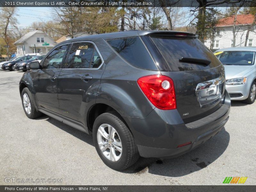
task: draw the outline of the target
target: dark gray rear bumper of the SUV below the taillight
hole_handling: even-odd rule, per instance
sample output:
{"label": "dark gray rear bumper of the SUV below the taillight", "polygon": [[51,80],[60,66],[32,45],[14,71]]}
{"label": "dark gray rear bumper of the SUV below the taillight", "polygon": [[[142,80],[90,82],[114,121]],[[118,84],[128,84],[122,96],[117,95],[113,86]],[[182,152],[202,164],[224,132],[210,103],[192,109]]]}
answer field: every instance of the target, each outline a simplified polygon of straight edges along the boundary
{"label": "dark gray rear bumper of the SUV below the taillight", "polygon": [[[187,153],[220,132],[228,121],[229,111],[230,98],[226,92],[217,111],[188,124],[184,124],[177,110],[157,108],[145,118],[128,117],[126,122],[140,156],[172,158]],[[190,141],[191,144],[177,148]]]}

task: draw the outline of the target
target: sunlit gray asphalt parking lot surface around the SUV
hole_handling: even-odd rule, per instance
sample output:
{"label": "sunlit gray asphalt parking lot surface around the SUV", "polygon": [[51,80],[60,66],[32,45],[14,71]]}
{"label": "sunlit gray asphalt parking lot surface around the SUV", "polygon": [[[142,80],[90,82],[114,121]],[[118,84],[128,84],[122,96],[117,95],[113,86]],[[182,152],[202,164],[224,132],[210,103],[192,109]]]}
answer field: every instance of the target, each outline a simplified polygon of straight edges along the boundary
{"label": "sunlit gray asphalt parking lot surface around the SUV", "polygon": [[[27,118],[22,74],[0,71],[0,185],[221,185],[225,177],[248,177],[244,185],[255,185],[256,102],[232,102],[225,128],[195,150],[174,159],[140,158],[117,172],[101,161],[92,136],[46,115]],[[6,183],[6,177],[62,183]]]}

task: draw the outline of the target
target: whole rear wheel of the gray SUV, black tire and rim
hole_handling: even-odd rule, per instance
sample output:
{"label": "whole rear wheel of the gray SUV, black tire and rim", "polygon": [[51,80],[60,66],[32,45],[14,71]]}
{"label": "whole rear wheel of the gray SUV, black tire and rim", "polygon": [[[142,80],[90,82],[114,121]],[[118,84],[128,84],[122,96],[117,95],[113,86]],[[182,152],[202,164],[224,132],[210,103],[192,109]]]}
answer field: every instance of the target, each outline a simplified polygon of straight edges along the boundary
{"label": "whole rear wheel of the gray SUV, black tire and rim", "polygon": [[132,133],[116,112],[98,116],[92,134],[97,153],[111,169],[124,170],[139,159]]}

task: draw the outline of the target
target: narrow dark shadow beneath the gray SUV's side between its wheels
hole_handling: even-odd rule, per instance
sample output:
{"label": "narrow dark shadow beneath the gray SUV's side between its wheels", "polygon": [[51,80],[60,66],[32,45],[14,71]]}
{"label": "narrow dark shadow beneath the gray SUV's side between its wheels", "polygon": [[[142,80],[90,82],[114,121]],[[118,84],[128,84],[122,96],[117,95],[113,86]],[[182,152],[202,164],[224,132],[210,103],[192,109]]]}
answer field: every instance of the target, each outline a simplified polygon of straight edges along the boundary
{"label": "narrow dark shadow beneath the gray SUV's side between its wheels", "polygon": [[82,132],[82,131],[79,131],[69,125],[66,125],[56,119],[53,119],[52,117],[49,117],[45,114],[43,114],[41,117],[39,118],[36,118],[35,120],[45,120],[45,121],[48,121],[49,123],[53,124],[54,126],[62,129],[63,131],[75,136],[77,139],[80,139],[86,143],[88,143],[89,145],[92,145],[94,146],[93,144],[93,140],[92,140],[92,135],[88,135],[87,133],[85,132]]}

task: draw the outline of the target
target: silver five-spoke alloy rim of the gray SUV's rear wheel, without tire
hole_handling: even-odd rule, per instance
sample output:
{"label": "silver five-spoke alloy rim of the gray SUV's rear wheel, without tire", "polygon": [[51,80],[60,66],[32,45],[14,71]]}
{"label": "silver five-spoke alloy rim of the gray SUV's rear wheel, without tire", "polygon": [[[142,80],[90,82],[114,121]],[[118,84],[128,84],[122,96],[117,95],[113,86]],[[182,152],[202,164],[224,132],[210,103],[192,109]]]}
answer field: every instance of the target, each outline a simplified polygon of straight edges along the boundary
{"label": "silver five-spoke alloy rim of the gray SUV's rear wheel, without tire", "polygon": [[102,154],[116,162],[122,156],[122,143],[116,129],[109,124],[101,124],[97,132],[97,141]]}

